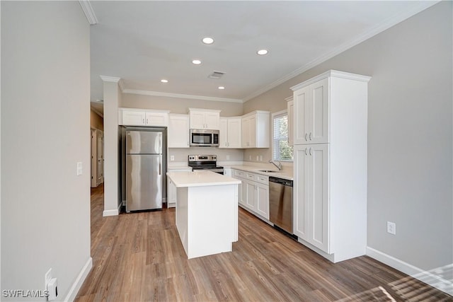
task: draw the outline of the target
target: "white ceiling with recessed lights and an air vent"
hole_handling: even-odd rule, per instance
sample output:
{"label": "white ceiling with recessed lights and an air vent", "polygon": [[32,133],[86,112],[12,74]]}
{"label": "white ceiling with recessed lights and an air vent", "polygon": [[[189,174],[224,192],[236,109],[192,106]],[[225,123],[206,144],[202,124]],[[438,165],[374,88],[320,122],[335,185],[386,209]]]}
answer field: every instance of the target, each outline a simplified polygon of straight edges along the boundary
{"label": "white ceiling with recessed lights and an air vent", "polygon": [[[91,100],[103,99],[102,75],[121,78],[124,92],[241,102],[436,2],[90,3],[98,20],[91,25]],[[202,44],[205,36],[214,44]],[[269,54],[258,56],[261,48]],[[225,74],[209,79],[213,71]]]}

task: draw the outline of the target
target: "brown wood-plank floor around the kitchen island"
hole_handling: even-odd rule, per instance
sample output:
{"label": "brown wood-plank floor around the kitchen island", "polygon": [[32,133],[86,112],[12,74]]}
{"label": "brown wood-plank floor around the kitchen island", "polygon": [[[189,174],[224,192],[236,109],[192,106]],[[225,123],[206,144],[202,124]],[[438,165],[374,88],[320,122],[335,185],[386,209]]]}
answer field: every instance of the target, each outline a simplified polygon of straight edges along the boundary
{"label": "brown wood-plank floor around the kitchen island", "polygon": [[188,260],[174,209],[102,217],[103,187],[91,199],[93,269],[78,302],[453,301],[367,256],[333,264],[243,209],[233,252]]}

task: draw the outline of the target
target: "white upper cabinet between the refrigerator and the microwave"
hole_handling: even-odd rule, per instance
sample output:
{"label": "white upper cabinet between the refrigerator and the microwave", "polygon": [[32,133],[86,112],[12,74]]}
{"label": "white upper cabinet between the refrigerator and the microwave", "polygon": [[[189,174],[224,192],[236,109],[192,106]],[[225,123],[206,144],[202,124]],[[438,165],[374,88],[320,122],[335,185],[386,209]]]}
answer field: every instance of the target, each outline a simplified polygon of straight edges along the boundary
{"label": "white upper cabinet between the refrigerator and the microwave", "polygon": [[189,148],[189,115],[168,115],[168,148]]}

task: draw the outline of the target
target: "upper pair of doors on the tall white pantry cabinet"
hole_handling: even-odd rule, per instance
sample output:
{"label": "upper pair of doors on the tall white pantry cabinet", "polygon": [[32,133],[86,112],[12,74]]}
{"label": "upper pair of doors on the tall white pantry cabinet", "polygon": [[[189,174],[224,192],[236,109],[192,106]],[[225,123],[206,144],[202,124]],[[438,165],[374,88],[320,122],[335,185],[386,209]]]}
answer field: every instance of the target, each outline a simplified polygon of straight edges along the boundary
{"label": "upper pair of doors on the tall white pantry cabinet", "polygon": [[328,143],[330,78],[294,91],[294,144]]}

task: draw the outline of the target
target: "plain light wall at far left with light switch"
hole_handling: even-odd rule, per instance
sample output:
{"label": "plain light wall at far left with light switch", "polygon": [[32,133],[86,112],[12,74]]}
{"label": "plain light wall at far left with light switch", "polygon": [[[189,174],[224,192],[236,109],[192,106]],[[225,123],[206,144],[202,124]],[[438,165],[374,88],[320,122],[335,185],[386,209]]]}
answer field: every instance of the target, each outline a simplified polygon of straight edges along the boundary
{"label": "plain light wall at far left with light switch", "polygon": [[89,55],[78,1],[1,1],[2,290],[52,268],[62,301],[91,265]]}

